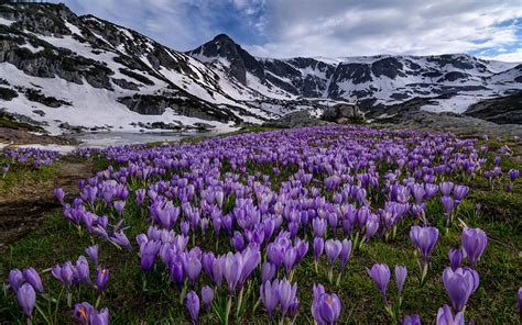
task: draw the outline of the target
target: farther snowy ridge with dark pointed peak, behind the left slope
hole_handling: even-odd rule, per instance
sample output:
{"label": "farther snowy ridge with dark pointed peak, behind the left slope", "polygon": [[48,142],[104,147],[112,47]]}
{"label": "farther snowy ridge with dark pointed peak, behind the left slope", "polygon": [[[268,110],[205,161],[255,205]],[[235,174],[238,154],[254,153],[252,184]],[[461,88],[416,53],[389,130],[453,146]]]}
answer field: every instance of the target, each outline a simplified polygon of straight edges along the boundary
{"label": "farther snowy ridge with dark pointed peak, behind the left slope", "polygon": [[426,110],[461,113],[482,99],[522,90],[522,64],[483,60],[465,54],[347,58],[257,58],[227,35],[188,52],[218,65],[242,85],[283,98],[325,98],[363,109],[413,98],[436,99]]}

